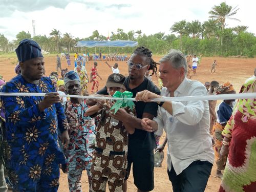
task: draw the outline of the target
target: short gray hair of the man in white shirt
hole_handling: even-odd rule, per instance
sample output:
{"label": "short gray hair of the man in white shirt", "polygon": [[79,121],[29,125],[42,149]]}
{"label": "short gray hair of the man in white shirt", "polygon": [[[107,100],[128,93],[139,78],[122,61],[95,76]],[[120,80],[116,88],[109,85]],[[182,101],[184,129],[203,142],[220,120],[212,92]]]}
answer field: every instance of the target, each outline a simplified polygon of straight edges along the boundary
{"label": "short gray hair of the man in white shirt", "polygon": [[164,55],[159,62],[169,62],[173,68],[184,68],[185,74],[187,73],[187,61],[185,55],[176,49],[171,49],[169,53]]}

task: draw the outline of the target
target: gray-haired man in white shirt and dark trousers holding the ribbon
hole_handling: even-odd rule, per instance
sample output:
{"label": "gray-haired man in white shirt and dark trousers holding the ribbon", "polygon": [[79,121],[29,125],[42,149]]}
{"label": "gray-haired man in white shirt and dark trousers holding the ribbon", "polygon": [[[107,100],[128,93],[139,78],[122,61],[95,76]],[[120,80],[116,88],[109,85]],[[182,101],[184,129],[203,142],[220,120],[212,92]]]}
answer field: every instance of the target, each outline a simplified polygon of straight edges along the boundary
{"label": "gray-haired man in white shirt and dark trousers holding the ribbon", "polygon": [[[160,59],[161,96],[147,90],[137,93],[136,100],[150,102],[159,97],[204,96],[202,83],[186,78],[187,63],[183,53],[171,50]],[[176,191],[204,191],[214,162],[209,134],[208,101],[158,102],[158,116],[142,119],[142,127],[156,135],[167,133],[168,176]]]}

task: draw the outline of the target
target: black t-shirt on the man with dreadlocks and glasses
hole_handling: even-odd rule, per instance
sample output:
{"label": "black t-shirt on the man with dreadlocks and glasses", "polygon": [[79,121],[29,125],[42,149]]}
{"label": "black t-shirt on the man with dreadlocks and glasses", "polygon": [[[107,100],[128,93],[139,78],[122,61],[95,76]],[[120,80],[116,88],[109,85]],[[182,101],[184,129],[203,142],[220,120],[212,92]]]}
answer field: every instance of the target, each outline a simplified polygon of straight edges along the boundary
{"label": "black t-shirt on the man with dreadlocks and glasses", "polygon": [[[148,90],[153,93],[160,95],[160,90],[155,86],[155,84],[144,78],[144,81],[134,89],[129,88],[129,77],[125,78],[124,86],[126,91],[133,93],[133,97],[140,91]],[[108,95],[106,87],[102,90],[99,90],[97,94]],[[134,101],[137,118],[142,119],[143,113],[149,113],[154,116],[157,116],[158,104],[156,102],[143,102],[143,101]],[[148,150],[152,151],[156,147],[156,139],[154,133],[149,133],[143,130],[135,129],[135,133],[129,135],[129,147],[137,148],[138,150]]]}

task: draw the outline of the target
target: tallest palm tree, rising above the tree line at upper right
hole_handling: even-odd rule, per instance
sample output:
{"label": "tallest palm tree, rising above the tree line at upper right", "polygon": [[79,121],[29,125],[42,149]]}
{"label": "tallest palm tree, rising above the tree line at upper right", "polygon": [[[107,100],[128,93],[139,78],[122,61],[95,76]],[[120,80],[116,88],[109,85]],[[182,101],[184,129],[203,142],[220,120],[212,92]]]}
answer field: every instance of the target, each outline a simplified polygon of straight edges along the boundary
{"label": "tallest palm tree, rising above the tree line at upper right", "polygon": [[[239,19],[231,17],[237,14],[237,11],[239,10],[239,8],[237,9],[237,7],[238,6],[232,9],[232,6],[227,5],[226,2],[222,2],[219,6],[215,5],[214,7],[212,7],[212,10],[209,11],[209,14],[210,14],[209,17],[214,18],[218,22],[220,22],[221,31],[223,31],[223,29],[226,26],[226,23],[225,23],[226,19],[237,20],[240,22]],[[222,36],[221,36],[221,54],[222,54]]]}

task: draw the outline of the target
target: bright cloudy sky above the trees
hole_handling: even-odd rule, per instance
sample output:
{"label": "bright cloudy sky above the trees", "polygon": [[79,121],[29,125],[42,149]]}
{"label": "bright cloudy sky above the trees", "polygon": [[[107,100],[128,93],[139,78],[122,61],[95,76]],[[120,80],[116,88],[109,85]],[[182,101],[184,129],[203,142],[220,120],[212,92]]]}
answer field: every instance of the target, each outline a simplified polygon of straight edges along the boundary
{"label": "bright cloudy sky above the trees", "polygon": [[[146,35],[157,32],[169,34],[169,28],[182,19],[208,20],[208,12],[215,1],[171,1],[171,0],[0,0],[0,33],[9,40],[15,39],[19,31],[33,34],[32,20],[35,20],[36,35],[49,36],[52,29],[71,33],[74,37],[88,37],[94,30],[108,36],[117,28],[125,32],[142,30]],[[214,3],[212,3],[214,2]],[[254,14],[256,3],[249,0],[226,0],[240,10],[234,16],[241,20],[227,20],[227,27],[248,26],[248,31],[256,33]]]}

